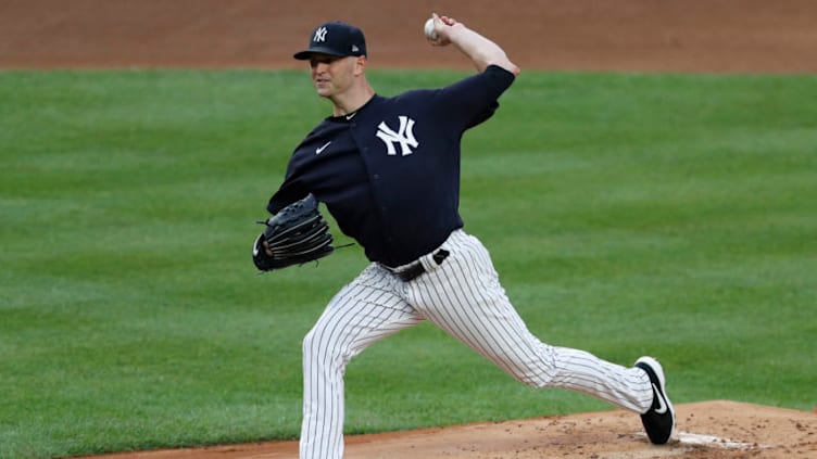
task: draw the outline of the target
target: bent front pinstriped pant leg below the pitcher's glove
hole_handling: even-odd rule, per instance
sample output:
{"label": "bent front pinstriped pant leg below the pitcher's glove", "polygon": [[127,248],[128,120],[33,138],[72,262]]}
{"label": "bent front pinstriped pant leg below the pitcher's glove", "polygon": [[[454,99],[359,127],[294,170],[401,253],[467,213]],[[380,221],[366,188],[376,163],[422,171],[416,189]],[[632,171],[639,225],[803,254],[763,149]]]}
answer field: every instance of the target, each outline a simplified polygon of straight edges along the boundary
{"label": "bent front pinstriped pant leg below the pitcher's glove", "polygon": [[343,456],[343,374],[376,341],[423,321],[400,296],[402,284],[370,265],[344,286],[303,340],[301,459]]}

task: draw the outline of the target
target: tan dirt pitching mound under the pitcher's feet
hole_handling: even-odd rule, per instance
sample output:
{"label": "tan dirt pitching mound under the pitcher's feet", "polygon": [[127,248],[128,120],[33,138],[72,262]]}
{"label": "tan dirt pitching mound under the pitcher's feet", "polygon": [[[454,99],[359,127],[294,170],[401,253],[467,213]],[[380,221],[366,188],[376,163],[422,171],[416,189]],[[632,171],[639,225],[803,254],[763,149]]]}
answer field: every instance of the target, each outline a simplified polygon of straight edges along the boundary
{"label": "tan dirt pitching mound under the pitcher's feet", "polygon": [[[676,407],[668,445],[651,445],[638,416],[602,411],[347,436],[349,459],[814,458],[817,415],[736,401]],[[96,459],[297,458],[297,442],[98,456]]]}

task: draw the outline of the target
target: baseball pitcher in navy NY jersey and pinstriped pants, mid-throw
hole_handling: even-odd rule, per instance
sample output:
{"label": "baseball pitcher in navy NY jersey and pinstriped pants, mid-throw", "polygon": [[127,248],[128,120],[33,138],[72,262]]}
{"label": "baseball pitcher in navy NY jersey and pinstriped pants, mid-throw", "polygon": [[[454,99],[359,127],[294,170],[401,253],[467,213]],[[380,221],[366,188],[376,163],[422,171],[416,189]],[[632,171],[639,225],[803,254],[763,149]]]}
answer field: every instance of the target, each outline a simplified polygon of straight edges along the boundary
{"label": "baseball pitcher in navy NY jersey and pinstriped pants, mid-throw", "polygon": [[525,384],[578,391],[633,411],[653,443],[668,442],[675,410],[661,365],[642,357],[626,368],[541,342],[505,295],[488,250],[463,230],[461,139],[494,114],[519,68],[452,17],[435,14],[426,36],[431,46],[456,48],[476,73],[444,88],[379,95],[366,79],[363,31],[339,22],[319,25],[294,54],[309,63],[332,112],[292,153],[267,204],[275,217],[255,242],[255,265],[278,269],[331,252],[317,202],[370,260],[303,340],[301,458],[343,456],[345,366],[376,341],[424,321]]}

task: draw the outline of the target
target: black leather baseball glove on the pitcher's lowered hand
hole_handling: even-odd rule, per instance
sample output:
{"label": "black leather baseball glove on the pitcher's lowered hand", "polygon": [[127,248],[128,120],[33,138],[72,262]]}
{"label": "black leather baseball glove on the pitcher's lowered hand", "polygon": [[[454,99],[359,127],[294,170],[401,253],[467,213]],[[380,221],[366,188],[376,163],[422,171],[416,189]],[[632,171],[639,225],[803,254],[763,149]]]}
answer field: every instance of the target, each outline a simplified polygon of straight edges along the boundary
{"label": "black leather baseball glove on the pitcher's lowered hand", "polygon": [[310,194],[284,207],[274,217],[259,224],[266,229],[255,239],[252,260],[262,271],[303,265],[332,253],[329,224],[317,208],[318,202]]}

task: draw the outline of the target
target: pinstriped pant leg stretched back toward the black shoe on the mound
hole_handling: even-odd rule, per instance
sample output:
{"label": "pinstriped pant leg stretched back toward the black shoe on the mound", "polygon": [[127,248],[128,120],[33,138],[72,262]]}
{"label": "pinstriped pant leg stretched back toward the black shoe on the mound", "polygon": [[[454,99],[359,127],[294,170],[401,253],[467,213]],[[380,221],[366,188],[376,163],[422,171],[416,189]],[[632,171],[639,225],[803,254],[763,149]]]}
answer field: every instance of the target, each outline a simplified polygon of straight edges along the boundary
{"label": "pinstriped pant leg stretched back toward the black shoe on the mound", "polygon": [[455,231],[443,244],[451,255],[410,285],[409,299],[425,317],[518,381],[563,387],[644,412],[652,387],[644,371],[590,353],[550,346],[530,333],[499,282],[488,251]]}

